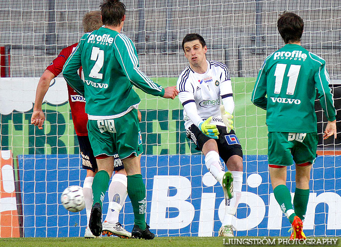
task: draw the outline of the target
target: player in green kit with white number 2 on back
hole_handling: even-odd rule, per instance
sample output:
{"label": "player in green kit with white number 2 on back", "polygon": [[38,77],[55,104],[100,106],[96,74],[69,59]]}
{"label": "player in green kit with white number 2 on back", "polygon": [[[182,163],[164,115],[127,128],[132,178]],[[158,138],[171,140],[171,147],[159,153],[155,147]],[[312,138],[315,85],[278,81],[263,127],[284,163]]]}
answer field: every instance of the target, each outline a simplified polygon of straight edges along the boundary
{"label": "player in green kit with white number 2 on back", "polygon": [[[119,0],[104,0],[99,30],[83,35],[63,68],[67,83],[86,99],[88,132],[98,164],[93,181],[94,204],[89,228],[95,236],[102,231],[102,202],[118,153],[127,172],[127,190],[132,201],[132,237],[152,239],[146,225],[146,187],[140,168],[142,138],[137,119],[140,98],[133,85],[146,93],[174,99],[175,87],[162,88],[139,70],[133,41],[120,34],[125,20],[125,5]],[[82,66],[84,81],[77,70]]]}

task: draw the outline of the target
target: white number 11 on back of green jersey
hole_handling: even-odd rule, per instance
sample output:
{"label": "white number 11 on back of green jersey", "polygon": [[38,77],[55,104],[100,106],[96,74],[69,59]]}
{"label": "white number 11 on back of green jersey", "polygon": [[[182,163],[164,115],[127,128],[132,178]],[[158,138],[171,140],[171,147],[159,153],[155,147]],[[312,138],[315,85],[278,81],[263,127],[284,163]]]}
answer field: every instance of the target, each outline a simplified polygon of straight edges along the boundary
{"label": "white number 11 on back of green jersey", "polygon": [[[283,78],[285,73],[286,64],[277,64],[275,70],[275,94],[279,94],[282,89]],[[286,88],[286,94],[293,95],[296,88],[297,78],[301,70],[301,65],[290,65],[288,74],[289,77],[288,87]]]}

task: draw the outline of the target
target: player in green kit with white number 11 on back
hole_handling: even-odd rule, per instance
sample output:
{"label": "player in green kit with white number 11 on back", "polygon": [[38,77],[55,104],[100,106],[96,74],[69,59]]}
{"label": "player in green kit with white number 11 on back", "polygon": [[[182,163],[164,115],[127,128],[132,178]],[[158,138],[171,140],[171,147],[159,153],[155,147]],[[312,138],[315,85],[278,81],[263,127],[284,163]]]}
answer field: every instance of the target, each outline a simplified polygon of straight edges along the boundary
{"label": "player in green kit with white number 11 on back", "polygon": [[[318,143],[314,109],[316,88],[328,119],[323,139],[332,135],[336,138],[336,110],[325,60],[301,46],[302,18],[285,13],[278,19],[277,27],[285,46],[266,57],[251,101],[266,110],[271,184],[277,202],[292,224],[290,238],[305,239],[302,220]],[[286,167],[294,162],[296,190],[292,205],[285,182]]]}

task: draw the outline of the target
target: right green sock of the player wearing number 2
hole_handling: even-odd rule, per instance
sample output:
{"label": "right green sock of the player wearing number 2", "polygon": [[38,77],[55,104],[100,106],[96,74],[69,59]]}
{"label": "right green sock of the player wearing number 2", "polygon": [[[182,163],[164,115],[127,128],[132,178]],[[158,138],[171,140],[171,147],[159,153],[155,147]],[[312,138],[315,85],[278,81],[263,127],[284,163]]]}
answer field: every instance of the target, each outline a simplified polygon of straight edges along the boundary
{"label": "right green sock of the player wearing number 2", "polygon": [[140,229],[146,229],[146,186],[142,175],[127,176],[127,191],[133,205],[134,223]]}

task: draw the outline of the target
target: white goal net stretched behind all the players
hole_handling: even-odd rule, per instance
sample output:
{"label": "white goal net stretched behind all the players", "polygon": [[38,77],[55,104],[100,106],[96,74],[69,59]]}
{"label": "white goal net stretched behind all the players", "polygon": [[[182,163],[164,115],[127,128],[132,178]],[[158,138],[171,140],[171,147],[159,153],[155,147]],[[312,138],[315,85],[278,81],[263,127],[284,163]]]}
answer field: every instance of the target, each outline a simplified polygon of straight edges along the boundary
{"label": "white goal net stretched behind all the players", "polygon": [[[123,0],[123,33],[135,43],[140,68],[162,86],[174,86],[188,61],[181,42],[202,35],[208,59],[230,70],[235,132],[244,152],[242,197],[234,219],[237,236],[288,236],[268,175],[265,111],[250,102],[265,57],[284,42],[276,22],[284,11],[304,20],[302,45],[326,60],[341,128],[341,2],[334,0]],[[62,48],[83,34],[82,18],[98,0],[8,0],[0,3],[0,236],[83,236],[85,210],[72,213],[60,202],[69,185],[83,185],[79,148],[66,83],[59,75],[45,97],[44,129],[30,124],[39,77]],[[147,223],[157,236],[217,236],[224,196],[204,158],[186,137],[179,100],[136,90],[147,188]],[[341,236],[341,145],[322,140],[326,119],[316,101],[319,146],[310,181],[304,232]],[[295,121],[294,119],[292,121]],[[287,185],[295,191],[295,170]],[[104,202],[104,215],[108,197]],[[129,198],[119,220],[133,227]]]}

